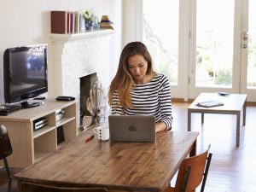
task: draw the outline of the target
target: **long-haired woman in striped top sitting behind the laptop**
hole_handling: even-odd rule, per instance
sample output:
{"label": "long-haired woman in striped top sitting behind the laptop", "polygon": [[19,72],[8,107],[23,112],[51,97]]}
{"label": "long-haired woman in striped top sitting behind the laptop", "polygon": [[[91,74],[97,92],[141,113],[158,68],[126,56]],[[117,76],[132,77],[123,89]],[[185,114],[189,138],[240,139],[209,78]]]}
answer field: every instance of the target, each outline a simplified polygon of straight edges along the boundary
{"label": "long-haired woman in striped top sitting behind the laptop", "polygon": [[156,132],[172,129],[169,81],[163,74],[154,73],[151,55],[141,42],[132,42],[123,49],[108,101],[113,115],[152,114]]}

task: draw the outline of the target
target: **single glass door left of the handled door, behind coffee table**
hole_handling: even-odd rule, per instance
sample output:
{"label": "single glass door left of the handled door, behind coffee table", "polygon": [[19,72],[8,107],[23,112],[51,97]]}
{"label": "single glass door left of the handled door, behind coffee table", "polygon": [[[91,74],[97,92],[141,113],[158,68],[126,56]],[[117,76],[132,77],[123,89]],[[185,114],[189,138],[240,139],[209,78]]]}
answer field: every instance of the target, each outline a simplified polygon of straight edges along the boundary
{"label": "single glass door left of the handled door, behind coffee table", "polygon": [[189,98],[203,91],[239,92],[235,0],[192,0],[190,9]]}

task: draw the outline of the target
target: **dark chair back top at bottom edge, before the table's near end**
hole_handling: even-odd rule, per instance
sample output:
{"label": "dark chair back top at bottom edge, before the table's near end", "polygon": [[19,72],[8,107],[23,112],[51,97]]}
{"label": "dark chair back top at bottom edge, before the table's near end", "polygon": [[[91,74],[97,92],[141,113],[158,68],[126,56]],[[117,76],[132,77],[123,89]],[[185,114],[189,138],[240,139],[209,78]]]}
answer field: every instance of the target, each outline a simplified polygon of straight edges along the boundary
{"label": "dark chair back top at bottom edge, before the table's near end", "polygon": [[104,188],[55,186],[29,182],[22,183],[21,189],[25,192],[108,192]]}

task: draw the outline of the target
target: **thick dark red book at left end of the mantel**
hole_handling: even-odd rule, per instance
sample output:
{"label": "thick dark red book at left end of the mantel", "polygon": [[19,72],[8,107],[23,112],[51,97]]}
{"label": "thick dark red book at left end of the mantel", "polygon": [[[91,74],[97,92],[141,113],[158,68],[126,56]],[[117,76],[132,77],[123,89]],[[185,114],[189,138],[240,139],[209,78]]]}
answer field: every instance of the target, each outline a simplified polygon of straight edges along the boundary
{"label": "thick dark red book at left end of the mantel", "polygon": [[65,34],[67,33],[67,12],[51,11],[50,12],[50,32]]}

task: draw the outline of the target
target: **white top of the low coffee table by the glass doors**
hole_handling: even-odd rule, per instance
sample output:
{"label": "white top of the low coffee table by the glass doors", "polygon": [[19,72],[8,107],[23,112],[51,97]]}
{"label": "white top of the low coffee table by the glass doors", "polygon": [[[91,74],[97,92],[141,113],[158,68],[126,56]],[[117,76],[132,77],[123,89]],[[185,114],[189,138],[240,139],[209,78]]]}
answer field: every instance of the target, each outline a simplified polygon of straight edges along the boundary
{"label": "white top of the low coffee table by the glass doors", "polygon": [[[190,111],[196,110],[204,110],[204,111],[241,111],[243,104],[247,100],[247,94],[230,94],[229,96],[219,96],[217,93],[201,93],[199,96],[196,97],[195,101],[189,105]],[[198,107],[196,104],[198,102],[207,102],[207,101],[216,101],[216,102],[223,102],[223,106],[212,107],[212,108],[203,108]]]}

